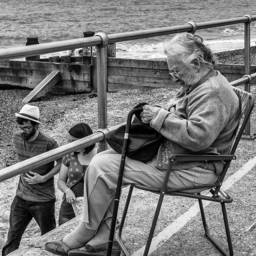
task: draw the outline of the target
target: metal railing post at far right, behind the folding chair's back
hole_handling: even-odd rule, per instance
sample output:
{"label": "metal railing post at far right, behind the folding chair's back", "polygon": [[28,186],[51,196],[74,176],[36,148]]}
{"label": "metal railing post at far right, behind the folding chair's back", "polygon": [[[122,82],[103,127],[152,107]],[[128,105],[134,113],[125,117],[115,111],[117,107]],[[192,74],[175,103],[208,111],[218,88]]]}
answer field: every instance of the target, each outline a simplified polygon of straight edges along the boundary
{"label": "metal railing post at far right, behind the folding chair's back", "polygon": [[[248,18],[248,21],[245,22],[245,75],[251,75],[251,15],[244,16]],[[251,91],[250,81],[245,83],[245,91]],[[245,109],[245,113],[247,113],[247,109]],[[245,136],[251,136],[250,119],[245,127]]]}

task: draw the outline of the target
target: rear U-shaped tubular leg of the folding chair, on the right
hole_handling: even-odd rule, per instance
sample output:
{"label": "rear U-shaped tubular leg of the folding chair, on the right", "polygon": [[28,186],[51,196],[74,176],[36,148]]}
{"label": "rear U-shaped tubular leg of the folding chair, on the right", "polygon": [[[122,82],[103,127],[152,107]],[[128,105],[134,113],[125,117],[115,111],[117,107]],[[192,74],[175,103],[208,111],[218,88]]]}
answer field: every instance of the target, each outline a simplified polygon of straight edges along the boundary
{"label": "rear U-shaped tubular leg of the folding chair, on the right", "polygon": [[203,228],[205,229],[206,237],[211,241],[211,243],[213,243],[213,245],[215,245],[215,247],[217,247],[217,249],[219,249],[219,251],[221,251],[221,253],[223,255],[233,256],[233,246],[232,246],[231,235],[230,235],[230,231],[229,231],[229,222],[228,222],[228,219],[227,219],[227,211],[226,211],[225,203],[221,203],[221,209],[222,209],[222,214],[223,214],[225,231],[226,231],[226,235],[227,235],[227,244],[229,246],[229,253],[227,253],[227,251],[225,251],[225,249],[223,249],[223,247],[220,245],[220,243],[218,241],[216,241],[210,235],[209,229],[208,229],[208,226],[207,226],[207,222],[206,222],[206,219],[205,219],[205,211],[203,209],[202,200],[198,199],[198,201],[199,201],[199,207],[200,207],[201,217],[202,217],[202,221],[203,221]]}

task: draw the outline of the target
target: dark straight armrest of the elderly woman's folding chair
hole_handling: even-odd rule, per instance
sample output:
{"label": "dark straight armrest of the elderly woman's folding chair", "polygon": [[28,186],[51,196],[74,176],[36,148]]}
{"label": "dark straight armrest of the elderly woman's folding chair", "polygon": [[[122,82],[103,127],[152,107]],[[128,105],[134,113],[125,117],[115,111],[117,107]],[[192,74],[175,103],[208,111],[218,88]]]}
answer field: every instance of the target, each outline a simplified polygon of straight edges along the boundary
{"label": "dark straight armrest of the elderly woman's folding chair", "polygon": [[228,161],[235,160],[235,155],[171,155],[169,161],[187,162],[187,161]]}

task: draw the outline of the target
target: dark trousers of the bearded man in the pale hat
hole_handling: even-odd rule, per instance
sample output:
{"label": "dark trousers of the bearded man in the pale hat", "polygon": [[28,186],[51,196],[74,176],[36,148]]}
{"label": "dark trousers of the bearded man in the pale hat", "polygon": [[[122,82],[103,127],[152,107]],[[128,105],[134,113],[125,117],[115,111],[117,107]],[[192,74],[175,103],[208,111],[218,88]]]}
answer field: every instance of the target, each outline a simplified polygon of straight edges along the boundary
{"label": "dark trousers of the bearded man in the pale hat", "polygon": [[41,229],[41,235],[55,229],[55,202],[31,202],[15,196],[11,203],[10,227],[7,242],[2,249],[2,256],[5,256],[19,248],[21,237],[32,218],[37,221]]}

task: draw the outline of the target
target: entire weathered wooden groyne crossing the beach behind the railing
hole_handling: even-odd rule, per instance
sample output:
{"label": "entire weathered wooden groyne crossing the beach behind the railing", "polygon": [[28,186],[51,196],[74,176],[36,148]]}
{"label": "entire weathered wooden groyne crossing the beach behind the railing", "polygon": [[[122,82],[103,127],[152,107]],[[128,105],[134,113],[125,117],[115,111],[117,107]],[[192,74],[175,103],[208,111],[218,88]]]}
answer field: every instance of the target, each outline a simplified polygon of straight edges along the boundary
{"label": "entire weathered wooden groyne crossing the beach behind the railing", "polygon": [[[236,53],[239,51],[239,53]],[[215,53],[218,58],[232,59],[242,50]],[[225,57],[226,56],[226,57]],[[231,58],[232,57],[232,58]],[[61,59],[63,62],[60,62]],[[49,83],[45,93],[90,93],[97,91],[97,58],[93,57],[50,57],[40,61],[1,61],[0,89],[35,89],[53,71],[59,72],[59,79]],[[58,61],[58,62],[51,62]],[[69,61],[70,63],[65,63]],[[217,63],[219,70],[229,81],[243,77],[244,65],[234,63]],[[251,73],[256,72],[256,66],[251,66]],[[255,85],[252,81],[251,85]],[[151,61],[140,59],[107,58],[107,91],[128,89],[152,89],[158,87],[177,87],[173,83],[166,61]]]}

